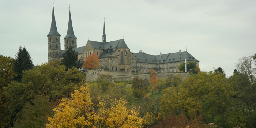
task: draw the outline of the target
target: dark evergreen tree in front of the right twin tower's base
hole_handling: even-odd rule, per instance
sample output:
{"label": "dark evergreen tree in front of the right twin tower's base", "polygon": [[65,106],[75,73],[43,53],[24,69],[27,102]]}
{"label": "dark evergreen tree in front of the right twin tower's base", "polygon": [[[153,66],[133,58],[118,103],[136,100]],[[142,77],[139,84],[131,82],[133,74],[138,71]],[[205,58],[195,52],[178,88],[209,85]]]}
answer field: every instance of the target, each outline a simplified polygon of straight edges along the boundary
{"label": "dark evergreen tree in front of the right twin tower's base", "polygon": [[78,60],[78,53],[71,46],[62,54],[61,64],[66,66],[66,70],[71,68],[81,68],[83,61]]}

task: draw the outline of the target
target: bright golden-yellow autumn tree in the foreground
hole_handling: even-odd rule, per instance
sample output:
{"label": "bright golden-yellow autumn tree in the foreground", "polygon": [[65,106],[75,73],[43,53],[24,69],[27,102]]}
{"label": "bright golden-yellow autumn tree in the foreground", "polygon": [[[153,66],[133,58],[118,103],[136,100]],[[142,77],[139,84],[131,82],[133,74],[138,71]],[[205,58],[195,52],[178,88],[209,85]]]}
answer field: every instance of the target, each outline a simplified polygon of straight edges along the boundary
{"label": "bright golden-yellow autumn tree in the foreground", "polygon": [[[76,87],[78,88],[78,87]],[[135,110],[127,110],[123,99],[114,101],[106,108],[105,101],[99,101],[98,111],[93,110],[93,103],[87,84],[80,85],[71,94],[71,99],[63,98],[54,110],[54,116],[49,117],[46,128],[84,127],[84,128],[139,128],[142,119]]]}

